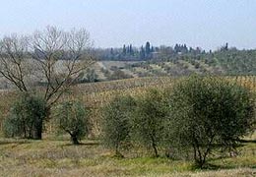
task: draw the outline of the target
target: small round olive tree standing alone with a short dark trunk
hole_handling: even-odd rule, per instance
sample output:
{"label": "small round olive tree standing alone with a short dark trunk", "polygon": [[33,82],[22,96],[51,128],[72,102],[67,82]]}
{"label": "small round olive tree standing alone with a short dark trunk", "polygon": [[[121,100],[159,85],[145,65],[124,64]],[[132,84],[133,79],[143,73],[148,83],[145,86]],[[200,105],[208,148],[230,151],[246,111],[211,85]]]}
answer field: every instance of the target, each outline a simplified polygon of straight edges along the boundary
{"label": "small round olive tree standing alone with a short dark trunk", "polygon": [[79,140],[89,133],[89,111],[81,102],[68,101],[59,104],[55,118],[58,128],[70,135],[74,145],[79,145]]}

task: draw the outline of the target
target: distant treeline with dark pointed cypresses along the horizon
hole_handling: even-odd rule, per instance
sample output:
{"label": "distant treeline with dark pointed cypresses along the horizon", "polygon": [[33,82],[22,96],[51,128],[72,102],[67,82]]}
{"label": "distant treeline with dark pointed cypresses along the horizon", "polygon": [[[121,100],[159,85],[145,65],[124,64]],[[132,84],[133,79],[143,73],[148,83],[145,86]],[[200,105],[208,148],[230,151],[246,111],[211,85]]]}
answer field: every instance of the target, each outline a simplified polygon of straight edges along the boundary
{"label": "distant treeline with dark pointed cypresses along the horizon", "polygon": [[[99,60],[147,61],[148,65],[171,62],[174,66],[187,65],[180,70],[191,73],[189,65],[202,74],[217,75],[255,75],[256,50],[238,50],[225,43],[216,51],[205,51],[201,47],[188,47],[186,44],[172,46],[153,46],[147,42],[145,46],[134,47],[132,44],[123,48],[96,49]],[[185,63],[184,63],[185,62]],[[144,64],[147,65],[147,64]],[[175,73],[171,72],[171,73]]]}

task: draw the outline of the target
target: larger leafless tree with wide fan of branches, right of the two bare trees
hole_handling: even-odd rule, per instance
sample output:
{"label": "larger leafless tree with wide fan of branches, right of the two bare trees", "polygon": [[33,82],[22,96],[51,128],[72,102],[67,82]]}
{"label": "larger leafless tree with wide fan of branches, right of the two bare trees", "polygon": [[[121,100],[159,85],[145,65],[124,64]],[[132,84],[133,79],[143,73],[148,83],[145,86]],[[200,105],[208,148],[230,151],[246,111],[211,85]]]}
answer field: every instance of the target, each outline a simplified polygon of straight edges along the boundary
{"label": "larger leafless tree with wide fan of branches, right of the two bare trees", "polygon": [[51,107],[94,64],[92,41],[86,29],[69,32],[47,27],[32,36],[32,59],[45,80],[44,98]]}

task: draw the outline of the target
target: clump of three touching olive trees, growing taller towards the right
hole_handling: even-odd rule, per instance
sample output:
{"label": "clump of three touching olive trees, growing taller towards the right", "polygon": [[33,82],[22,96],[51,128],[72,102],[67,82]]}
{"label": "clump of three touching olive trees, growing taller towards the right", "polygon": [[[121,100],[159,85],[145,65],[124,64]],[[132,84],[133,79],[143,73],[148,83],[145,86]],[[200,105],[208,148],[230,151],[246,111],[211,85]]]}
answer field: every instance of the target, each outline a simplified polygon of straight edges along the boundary
{"label": "clump of three touching olive trees, growing taller towards the right", "polygon": [[142,146],[204,167],[214,150],[235,150],[255,130],[252,93],[220,78],[190,77],[173,89],[116,97],[102,112],[103,142],[118,156]]}

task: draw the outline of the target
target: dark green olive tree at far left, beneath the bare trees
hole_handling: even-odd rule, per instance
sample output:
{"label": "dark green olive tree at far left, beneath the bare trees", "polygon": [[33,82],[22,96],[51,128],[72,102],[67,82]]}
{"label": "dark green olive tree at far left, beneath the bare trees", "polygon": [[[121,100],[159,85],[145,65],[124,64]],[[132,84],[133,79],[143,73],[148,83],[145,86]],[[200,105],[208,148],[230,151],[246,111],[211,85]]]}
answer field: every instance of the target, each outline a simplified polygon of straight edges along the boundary
{"label": "dark green olive tree at far left, beneath the bare trees", "polygon": [[21,94],[5,119],[5,135],[40,140],[46,116],[45,105],[41,97],[31,93]]}

